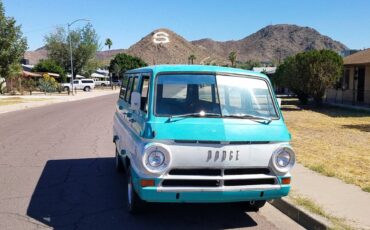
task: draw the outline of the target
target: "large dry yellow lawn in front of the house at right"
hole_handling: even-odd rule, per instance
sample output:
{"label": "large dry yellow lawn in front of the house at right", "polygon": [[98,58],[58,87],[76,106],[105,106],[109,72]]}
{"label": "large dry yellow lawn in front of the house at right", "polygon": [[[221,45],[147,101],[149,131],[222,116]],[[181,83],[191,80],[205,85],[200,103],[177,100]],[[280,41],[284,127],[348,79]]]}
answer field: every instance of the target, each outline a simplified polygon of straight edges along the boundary
{"label": "large dry yellow lawn in front of the house at right", "polygon": [[370,192],[370,113],[282,107],[298,162]]}

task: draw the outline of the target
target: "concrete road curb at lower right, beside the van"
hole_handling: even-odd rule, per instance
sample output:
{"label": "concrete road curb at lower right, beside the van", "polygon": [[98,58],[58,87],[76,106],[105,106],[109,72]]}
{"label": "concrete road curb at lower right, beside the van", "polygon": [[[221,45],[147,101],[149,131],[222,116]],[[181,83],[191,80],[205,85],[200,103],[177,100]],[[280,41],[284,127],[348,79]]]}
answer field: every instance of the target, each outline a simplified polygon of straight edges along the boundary
{"label": "concrete road curb at lower right, beside the van", "polygon": [[332,224],[323,217],[293,204],[288,198],[272,200],[270,204],[306,229],[321,230],[333,227]]}

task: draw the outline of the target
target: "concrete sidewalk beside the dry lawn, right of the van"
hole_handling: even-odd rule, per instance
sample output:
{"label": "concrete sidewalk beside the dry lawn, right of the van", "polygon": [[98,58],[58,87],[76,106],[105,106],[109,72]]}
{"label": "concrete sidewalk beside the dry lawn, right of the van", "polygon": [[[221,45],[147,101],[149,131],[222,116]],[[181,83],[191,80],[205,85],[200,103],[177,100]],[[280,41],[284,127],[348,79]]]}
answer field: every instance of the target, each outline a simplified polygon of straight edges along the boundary
{"label": "concrete sidewalk beside the dry lawn, right of the van", "polygon": [[300,164],[292,175],[292,189],[297,194],[312,199],[331,215],[346,219],[354,228],[370,229],[370,193]]}

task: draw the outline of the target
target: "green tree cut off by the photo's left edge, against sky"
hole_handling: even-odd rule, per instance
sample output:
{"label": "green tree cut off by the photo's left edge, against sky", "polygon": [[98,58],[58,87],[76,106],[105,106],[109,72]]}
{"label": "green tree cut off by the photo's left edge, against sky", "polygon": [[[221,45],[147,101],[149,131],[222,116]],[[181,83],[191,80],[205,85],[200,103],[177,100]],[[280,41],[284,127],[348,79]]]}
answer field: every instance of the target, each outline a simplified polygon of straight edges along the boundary
{"label": "green tree cut off by the photo's left edge, against sky", "polygon": [[26,38],[21,27],[12,17],[5,16],[3,3],[0,0],[0,77],[8,78],[13,67],[22,59],[27,49]]}

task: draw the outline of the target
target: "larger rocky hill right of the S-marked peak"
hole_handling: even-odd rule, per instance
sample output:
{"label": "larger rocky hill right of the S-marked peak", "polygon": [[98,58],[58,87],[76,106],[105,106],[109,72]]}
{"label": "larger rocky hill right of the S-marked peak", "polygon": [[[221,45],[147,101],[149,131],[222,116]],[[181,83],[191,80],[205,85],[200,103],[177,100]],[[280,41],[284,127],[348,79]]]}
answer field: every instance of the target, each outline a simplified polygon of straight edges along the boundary
{"label": "larger rocky hill right of the S-marked peak", "polygon": [[296,25],[271,25],[241,40],[218,42],[201,39],[192,42],[222,57],[235,50],[239,61],[278,61],[302,51],[331,49],[340,52],[345,45],[324,36],[315,29]]}

